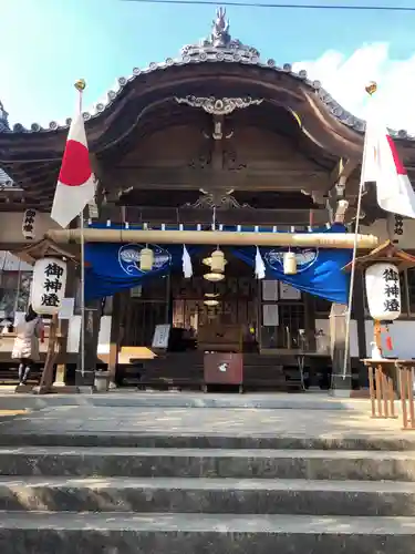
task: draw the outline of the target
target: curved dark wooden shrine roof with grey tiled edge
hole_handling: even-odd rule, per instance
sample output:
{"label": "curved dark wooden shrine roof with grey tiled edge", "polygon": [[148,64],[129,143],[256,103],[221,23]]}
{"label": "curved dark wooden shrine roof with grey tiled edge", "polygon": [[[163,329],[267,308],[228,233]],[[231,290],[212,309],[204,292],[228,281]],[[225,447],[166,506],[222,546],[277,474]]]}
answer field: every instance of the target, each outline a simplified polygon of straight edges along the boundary
{"label": "curved dark wooden shrine roof with grey tiled edge", "polygon": [[[178,58],[135,68],[131,75],[118,78],[116,88],[92,111],[84,112],[94,171],[102,186],[107,189],[127,181],[126,174],[135,183],[135,168],[128,170],[122,161],[134,148],[139,152],[149,136],[179,125],[199,132],[206,129],[215,111],[215,106],[209,107],[211,99],[249,105],[232,113],[225,110],[222,115],[238,129],[256,125],[289,137],[314,162],[315,168],[309,173],[294,174],[297,167],[292,167],[290,183],[297,183],[298,192],[312,188],[310,183],[307,186],[310,179],[326,192],[326,174],[341,157],[360,163],[364,122],[341,107],[320,82],[309,80],[305,71],[294,72],[290,64],[279,66],[274,60],[261,60],[257,49],[234,39],[225,11],[218,10],[208,38],[184,47]],[[19,123],[11,126],[0,103],[0,167],[23,192],[17,201],[22,209],[50,209],[70,122],[53,121],[46,127],[39,123],[29,129]],[[393,135],[411,175],[412,166],[415,168],[415,140],[404,131]],[[188,166],[178,167],[176,173],[168,168],[167,176],[152,167],[146,178],[142,172],[139,186],[151,194],[157,182],[158,188],[172,191],[187,179],[198,189],[205,186],[199,170],[196,178]],[[266,186],[260,184],[261,175],[249,173],[249,167],[245,175],[239,172],[238,176],[238,167],[231,172],[236,189]],[[211,181],[206,172],[205,178]],[[277,189],[283,181],[282,176],[274,178]],[[127,186],[121,188],[125,192]],[[0,205],[0,209],[6,208]]]}

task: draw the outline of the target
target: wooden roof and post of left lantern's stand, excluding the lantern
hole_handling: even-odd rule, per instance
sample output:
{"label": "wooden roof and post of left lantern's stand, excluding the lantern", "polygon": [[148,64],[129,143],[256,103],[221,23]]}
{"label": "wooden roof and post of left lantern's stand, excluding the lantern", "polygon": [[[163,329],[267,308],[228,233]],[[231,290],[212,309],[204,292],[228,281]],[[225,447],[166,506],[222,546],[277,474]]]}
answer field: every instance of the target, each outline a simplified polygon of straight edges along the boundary
{"label": "wooden roof and post of left lantern's stand, excluding the lantern", "polygon": [[[68,248],[68,249],[66,249]],[[13,252],[12,254],[25,261],[27,264],[33,266],[37,260],[48,257],[54,257],[60,259],[65,259],[69,266],[75,268],[80,265],[80,256],[77,254],[79,248],[75,246],[74,250],[70,250],[70,247],[62,248],[60,245],[55,244],[49,238],[44,238],[37,243],[31,244],[22,250]],[[66,283],[66,287],[71,286],[71,283]],[[37,394],[46,394],[51,392],[58,393],[77,393],[80,392],[77,387],[69,387],[65,384],[65,363],[64,357],[66,353],[66,343],[64,339],[68,339],[68,325],[66,321],[59,319],[58,315],[52,316],[50,328],[49,328],[49,343],[46,358],[44,361],[44,367],[42,371],[42,378],[39,387],[30,388],[28,390],[27,386],[18,386],[15,392],[33,392]],[[66,327],[66,329],[63,329]],[[62,362],[56,366],[55,381],[53,382],[53,367],[58,359],[62,357]]]}

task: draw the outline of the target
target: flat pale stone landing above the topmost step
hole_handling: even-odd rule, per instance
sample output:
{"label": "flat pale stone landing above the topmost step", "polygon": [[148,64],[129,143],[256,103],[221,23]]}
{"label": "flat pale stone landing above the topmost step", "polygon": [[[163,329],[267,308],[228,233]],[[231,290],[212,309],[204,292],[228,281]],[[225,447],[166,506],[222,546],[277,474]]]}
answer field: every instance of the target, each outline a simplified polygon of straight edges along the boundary
{"label": "flat pale stone landing above the topmost step", "polygon": [[[331,406],[333,404],[333,407]],[[391,438],[415,441],[400,420],[373,420],[366,400],[326,400],[326,408],[295,402],[282,408],[159,408],[147,406],[46,407],[1,422],[2,433],[169,433],[298,438]]]}

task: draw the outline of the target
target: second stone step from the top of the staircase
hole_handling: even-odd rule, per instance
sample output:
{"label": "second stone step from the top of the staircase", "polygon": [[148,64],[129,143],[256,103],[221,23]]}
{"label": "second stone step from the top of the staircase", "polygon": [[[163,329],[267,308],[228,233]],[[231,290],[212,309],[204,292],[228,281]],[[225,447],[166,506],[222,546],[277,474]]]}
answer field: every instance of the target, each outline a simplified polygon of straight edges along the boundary
{"label": "second stone step from the top of the staircase", "polygon": [[2,447],[1,475],[415,481],[413,452]]}

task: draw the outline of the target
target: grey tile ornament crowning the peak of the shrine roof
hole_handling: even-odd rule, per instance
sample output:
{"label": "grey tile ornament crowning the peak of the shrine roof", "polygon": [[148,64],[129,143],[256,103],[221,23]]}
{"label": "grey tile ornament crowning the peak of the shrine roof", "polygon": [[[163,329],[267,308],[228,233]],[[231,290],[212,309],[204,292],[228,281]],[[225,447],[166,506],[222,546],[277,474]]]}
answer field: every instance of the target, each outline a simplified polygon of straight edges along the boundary
{"label": "grey tile ornament crowning the peak of the shrine roof", "polygon": [[232,39],[229,33],[229,20],[226,19],[226,9],[218,8],[212,21],[210,35],[196,44],[187,44],[181,49],[184,61],[249,61],[257,63],[259,52],[256,48],[242,44],[238,39]]}

